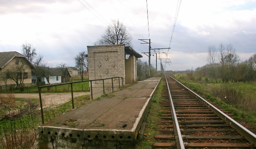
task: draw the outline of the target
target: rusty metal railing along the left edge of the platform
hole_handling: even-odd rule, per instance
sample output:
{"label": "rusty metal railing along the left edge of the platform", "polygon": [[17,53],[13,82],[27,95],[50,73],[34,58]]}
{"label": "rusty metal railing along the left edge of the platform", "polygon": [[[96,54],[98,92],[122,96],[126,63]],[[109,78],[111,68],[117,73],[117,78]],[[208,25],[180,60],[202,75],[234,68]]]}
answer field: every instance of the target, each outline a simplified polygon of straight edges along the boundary
{"label": "rusty metal railing along the left edge of the platform", "polygon": [[[105,84],[104,84],[104,80],[108,80],[108,79],[111,79],[111,84],[112,84],[112,92],[114,92],[114,83],[113,83],[113,78],[118,78],[118,86],[120,88],[120,78],[122,78],[122,87],[124,87],[124,83],[123,83],[123,77],[112,77],[112,78],[103,78],[103,79],[96,79],[96,80],[84,80],[84,81],[76,81],[76,82],[68,82],[68,83],[60,83],[60,84],[50,84],[50,85],[44,85],[44,86],[38,86],[38,91],[39,91],[39,100],[40,100],[40,109],[41,109],[41,117],[42,117],[42,124],[44,124],[44,111],[46,110],[50,110],[50,109],[53,109],[53,108],[56,108],[58,106],[61,106],[63,104],[66,104],[70,101],[72,101],[72,109],[74,109],[74,96],[73,96],[73,84],[76,84],[76,83],[81,83],[81,82],[90,82],[90,92],[91,92],[91,99],[92,98],[92,82],[93,81],[100,81],[102,80],[102,87],[103,87],[103,94],[105,94]],[[70,84],[71,86],[71,100],[68,101],[68,102],[65,102],[63,104],[60,104],[58,106],[55,106],[55,107],[52,107],[52,108],[48,108],[48,109],[43,109],[43,104],[42,104],[42,96],[41,96],[41,90],[42,88],[50,88],[50,87],[53,87],[53,86],[61,86],[61,85],[66,85],[66,84]]]}

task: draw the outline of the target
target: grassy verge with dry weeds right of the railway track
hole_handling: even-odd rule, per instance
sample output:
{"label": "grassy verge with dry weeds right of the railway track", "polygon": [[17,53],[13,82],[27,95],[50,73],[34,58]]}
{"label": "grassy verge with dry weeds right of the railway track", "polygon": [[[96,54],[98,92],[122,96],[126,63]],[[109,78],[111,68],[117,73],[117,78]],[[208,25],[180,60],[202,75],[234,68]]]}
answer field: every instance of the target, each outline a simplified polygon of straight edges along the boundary
{"label": "grassy verge with dry weeds right of the railway track", "polygon": [[206,83],[191,81],[186,74],[177,80],[208,101],[231,111],[235,120],[245,119],[256,128],[256,84],[255,83]]}

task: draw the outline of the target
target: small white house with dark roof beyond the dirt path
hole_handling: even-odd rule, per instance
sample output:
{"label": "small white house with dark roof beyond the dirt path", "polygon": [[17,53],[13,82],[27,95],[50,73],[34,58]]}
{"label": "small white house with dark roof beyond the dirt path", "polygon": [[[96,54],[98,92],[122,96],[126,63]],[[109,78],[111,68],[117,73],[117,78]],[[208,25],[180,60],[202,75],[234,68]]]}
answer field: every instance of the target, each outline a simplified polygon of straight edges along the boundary
{"label": "small white house with dark roof beyond the dirt path", "polygon": [[32,71],[32,82],[42,84],[64,83],[71,76],[67,68],[37,67]]}

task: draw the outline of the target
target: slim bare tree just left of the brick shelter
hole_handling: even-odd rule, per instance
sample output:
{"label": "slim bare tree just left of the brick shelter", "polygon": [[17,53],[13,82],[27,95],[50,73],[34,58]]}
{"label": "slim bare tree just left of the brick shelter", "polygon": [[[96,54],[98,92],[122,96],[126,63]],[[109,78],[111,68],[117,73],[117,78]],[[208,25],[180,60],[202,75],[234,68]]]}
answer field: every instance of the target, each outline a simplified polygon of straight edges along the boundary
{"label": "slim bare tree just left of the brick shelter", "polygon": [[84,80],[84,71],[88,70],[88,57],[86,51],[79,52],[74,58],[76,68],[80,71],[82,81]]}

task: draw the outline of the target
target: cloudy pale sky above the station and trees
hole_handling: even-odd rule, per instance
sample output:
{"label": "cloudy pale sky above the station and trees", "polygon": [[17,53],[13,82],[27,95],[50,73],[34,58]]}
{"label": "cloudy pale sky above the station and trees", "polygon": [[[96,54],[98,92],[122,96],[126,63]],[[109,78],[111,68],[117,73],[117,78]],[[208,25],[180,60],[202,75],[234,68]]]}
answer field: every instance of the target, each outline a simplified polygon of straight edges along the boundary
{"label": "cloudy pale sky above the station and trees", "polygon": [[142,61],[148,44],[138,39],[170,47],[151,50],[158,71],[159,59],[166,71],[206,65],[209,45],[232,43],[240,61],[256,53],[256,0],[0,0],[0,52],[30,43],[52,67],[74,67],[112,20],[126,25]]}

